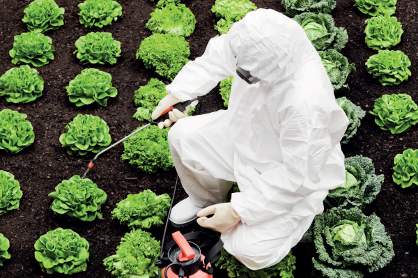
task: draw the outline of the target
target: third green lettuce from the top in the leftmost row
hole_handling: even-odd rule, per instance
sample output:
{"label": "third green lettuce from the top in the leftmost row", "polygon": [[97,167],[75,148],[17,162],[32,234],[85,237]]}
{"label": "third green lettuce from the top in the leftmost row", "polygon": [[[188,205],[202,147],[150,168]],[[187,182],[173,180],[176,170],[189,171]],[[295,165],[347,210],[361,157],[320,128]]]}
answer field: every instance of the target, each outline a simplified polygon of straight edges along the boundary
{"label": "third green lettuce from the top in the leftmost row", "polygon": [[20,68],[10,68],[0,77],[0,96],[7,102],[27,103],[42,95],[44,81],[38,70],[29,65]]}

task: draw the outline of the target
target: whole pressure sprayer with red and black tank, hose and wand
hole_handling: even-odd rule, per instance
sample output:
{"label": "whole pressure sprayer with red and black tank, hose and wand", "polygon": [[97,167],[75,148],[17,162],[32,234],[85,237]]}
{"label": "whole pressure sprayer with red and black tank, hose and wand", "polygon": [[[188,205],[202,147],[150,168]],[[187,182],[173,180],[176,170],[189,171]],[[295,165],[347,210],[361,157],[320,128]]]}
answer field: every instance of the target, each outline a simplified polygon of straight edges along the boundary
{"label": "whole pressure sprayer with red and black tank, hose and wand", "polygon": [[[202,100],[201,98],[194,98],[192,100],[187,100],[182,103],[178,103],[176,105],[171,106],[166,111],[162,112],[160,117],[155,120],[151,120],[148,125],[132,132],[127,137],[117,141],[115,144],[105,148],[100,153],[98,153],[93,160],[88,164],[88,169],[84,173],[82,178],[85,178],[88,170],[93,168],[96,160],[98,157],[110,150],[114,146],[121,144],[123,141],[128,139],[134,134],[137,134],[144,128],[148,128],[150,125],[157,125],[161,121],[165,121],[169,119],[169,111],[173,109],[178,109],[180,112],[186,110],[187,106],[195,107],[197,103],[199,105],[199,112],[198,115],[201,113],[202,109]],[[169,244],[164,247],[164,239],[167,233],[167,227],[169,225],[169,219],[171,215],[171,208],[173,207],[174,196],[176,196],[178,184],[178,176],[176,178],[176,186],[174,187],[173,198],[171,199],[171,205],[169,208],[169,213],[167,215],[167,222],[164,228],[164,234],[162,235],[162,242],[161,242],[161,252],[159,256],[159,261],[155,262],[155,266],[159,268],[158,277],[160,278],[161,275],[163,278],[212,278],[213,268],[211,265],[214,265],[220,258],[221,249],[224,246],[224,242],[222,242],[221,238],[217,235],[209,235],[208,233],[204,232],[194,232],[194,233],[186,233],[182,235],[180,231],[173,233],[173,239]],[[204,240],[201,245],[197,245],[196,243],[192,242],[192,240]],[[203,256],[201,254],[201,249],[205,247],[210,247],[210,251]]]}

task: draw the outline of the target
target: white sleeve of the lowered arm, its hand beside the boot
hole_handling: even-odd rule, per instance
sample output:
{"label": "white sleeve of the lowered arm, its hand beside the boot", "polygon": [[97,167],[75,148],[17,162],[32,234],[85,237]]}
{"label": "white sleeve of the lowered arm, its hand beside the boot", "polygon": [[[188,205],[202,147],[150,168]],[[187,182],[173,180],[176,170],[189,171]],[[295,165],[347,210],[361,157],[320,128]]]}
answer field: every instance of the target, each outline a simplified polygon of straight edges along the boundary
{"label": "white sleeve of the lowered arm, its hand beside the boot", "polygon": [[332,179],[333,183],[341,181],[339,185],[321,182],[321,170],[330,153],[339,148],[348,125],[346,114],[337,105],[327,112],[309,119],[302,114],[291,116],[280,123],[279,146],[284,164],[261,173],[245,192],[232,194],[232,207],[242,222],[251,225],[285,215],[294,212],[295,206],[302,210],[301,216],[314,215],[323,202],[318,200],[318,191],[343,183],[341,178]]}

